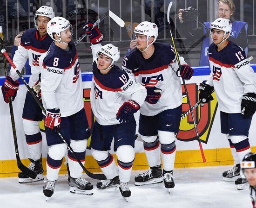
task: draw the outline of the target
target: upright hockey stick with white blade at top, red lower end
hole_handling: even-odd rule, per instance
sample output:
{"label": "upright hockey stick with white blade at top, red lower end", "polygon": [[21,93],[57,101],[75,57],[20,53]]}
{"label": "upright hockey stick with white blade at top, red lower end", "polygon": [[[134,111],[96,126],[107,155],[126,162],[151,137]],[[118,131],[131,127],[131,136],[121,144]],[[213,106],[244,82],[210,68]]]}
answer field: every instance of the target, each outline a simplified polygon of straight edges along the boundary
{"label": "upright hockey stick with white blade at top, red lower end", "polygon": [[[168,21],[168,25],[169,25],[169,31],[170,31],[170,34],[171,34],[171,39],[172,39],[175,55],[176,55],[176,58],[177,58],[179,69],[181,71],[181,63],[180,63],[179,55],[178,55],[178,52],[176,50],[174,38],[173,38],[173,35],[172,35],[172,32],[171,32],[171,24],[170,24],[170,9],[171,9],[171,6],[172,6],[172,1],[168,5],[167,21]],[[188,89],[187,89],[187,86],[186,86],[186,83],[185,83],[184,79],[182,79],[182,82],[183,82],[183,86],[185,88],[185,92],[186,92],[188,103],[189,103],[189,109],[190,109],[190,112],[191,112],[191,115],[192,115],[192,119],[193,119],[193,123],[194,123],[194,126],[195,126],[195,132],[196,132],[196,136],[198,138],[197,140],[198,140],[200,151],[201,151],[201,154],[202,154],[202,161],[205,163],[206,160],[205,160],[205,157],[204,157],[204,152],[203,152],[203,149],[202,149],[202,144],[201,144],[201,141],[200,141],[199,133],[197,131],[197,127],[196,127],[196,123],[195,123],[195,117],[194,117],[194,113],[193,113],[193,110],[192,110],[192,107],[191,107],[191,102],[190,102],[190,99],[189,99],[189,92],[188,92]]]}

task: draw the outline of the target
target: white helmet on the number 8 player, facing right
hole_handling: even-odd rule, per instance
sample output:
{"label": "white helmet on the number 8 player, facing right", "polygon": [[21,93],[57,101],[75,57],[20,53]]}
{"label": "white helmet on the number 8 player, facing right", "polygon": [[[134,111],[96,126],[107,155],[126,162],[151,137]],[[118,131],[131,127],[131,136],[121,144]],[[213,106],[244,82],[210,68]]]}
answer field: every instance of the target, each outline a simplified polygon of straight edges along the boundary
{"label": "white helmet on the number 8 player, facing right", "polygon": [[[70,28],[70,32],[73,34],[72,25],[64,17],[54,17],[47,23],[47,33],[55,41],[61,42],[61,32]],[[54,33],[60,38],[56,40],[54,38]]]}

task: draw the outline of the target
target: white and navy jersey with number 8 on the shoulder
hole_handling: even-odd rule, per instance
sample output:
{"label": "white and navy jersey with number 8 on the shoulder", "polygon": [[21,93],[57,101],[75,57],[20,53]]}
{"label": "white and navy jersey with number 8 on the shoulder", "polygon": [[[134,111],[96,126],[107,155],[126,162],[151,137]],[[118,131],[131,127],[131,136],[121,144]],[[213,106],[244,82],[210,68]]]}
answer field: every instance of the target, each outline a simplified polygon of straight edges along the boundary
{"label": "white and navy jersey with number 8 on the shoulder", "polygon": [[43,106],[60,108],[61,117],[73,115],[84,107],[77,52],[74,43],[68,47],[69,51],[62,50],[53,42],[39,59]]}

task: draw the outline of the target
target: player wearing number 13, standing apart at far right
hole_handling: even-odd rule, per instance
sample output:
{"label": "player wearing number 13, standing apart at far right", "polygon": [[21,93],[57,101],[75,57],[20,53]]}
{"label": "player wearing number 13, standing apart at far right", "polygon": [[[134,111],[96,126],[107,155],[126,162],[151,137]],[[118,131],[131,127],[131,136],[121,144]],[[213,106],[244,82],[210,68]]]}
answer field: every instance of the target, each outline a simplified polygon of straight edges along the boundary
{"label": "player wearing number 13, standing apart at far right", "polygon": [[221,111],[221,132],[226,134],[230,147],[236,149],[232,151],[235,166],[222,176],[225,181],[234,181],[240,175],[235,184],[237,189],[245,189],[248,183],[240,171],[240,162],[250,152],[248,134],[256,111],[256,75],[244,50],[228,40],[231,29],[229,19],[218,18],[211,23],[211,74],[207,82],[200,84],[199,98],[208,103],[212,100],[209,91],[215,89]]}

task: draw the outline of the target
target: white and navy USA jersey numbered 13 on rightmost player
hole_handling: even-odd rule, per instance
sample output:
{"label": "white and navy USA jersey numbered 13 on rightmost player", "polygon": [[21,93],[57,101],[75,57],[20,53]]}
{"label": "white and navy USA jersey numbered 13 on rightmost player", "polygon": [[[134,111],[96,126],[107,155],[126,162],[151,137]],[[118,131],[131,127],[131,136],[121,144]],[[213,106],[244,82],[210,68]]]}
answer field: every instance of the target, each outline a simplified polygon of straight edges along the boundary
{"label": "white and navy USA jersey numbered 13 on rightmost player", "polygon": [[220,110],[241,113],[242,96],[256,93],[256,74],[250,67],[244,50],[233,42],[217,51],[214,43],[209,46],[211,74],[206,82],[215,89]]}

